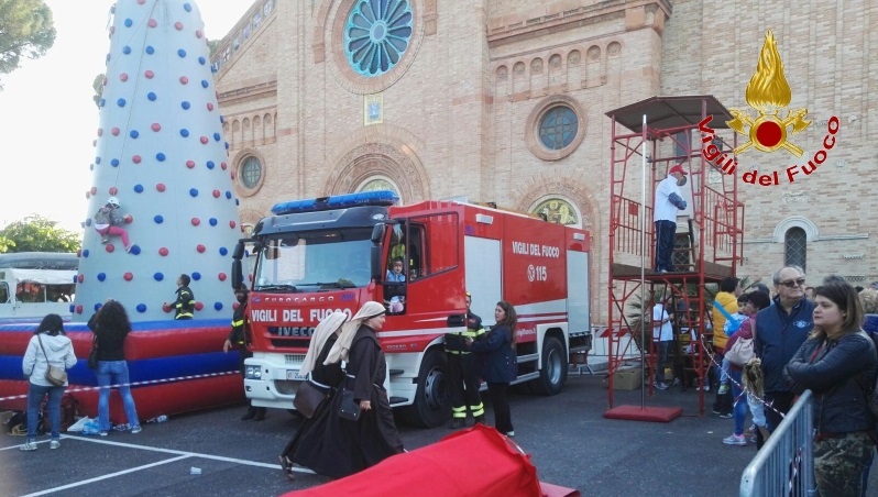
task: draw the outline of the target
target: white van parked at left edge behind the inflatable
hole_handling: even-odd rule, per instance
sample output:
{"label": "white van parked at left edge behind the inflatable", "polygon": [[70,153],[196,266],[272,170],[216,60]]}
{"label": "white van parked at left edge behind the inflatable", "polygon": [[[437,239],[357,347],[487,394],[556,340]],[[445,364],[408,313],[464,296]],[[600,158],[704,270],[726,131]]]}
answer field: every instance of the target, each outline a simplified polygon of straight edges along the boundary
{"label": "white van parked at left edge behind the inflatable", "polygon": [[76,254],[0,254],[0,322],[69,320],[79,264]]}

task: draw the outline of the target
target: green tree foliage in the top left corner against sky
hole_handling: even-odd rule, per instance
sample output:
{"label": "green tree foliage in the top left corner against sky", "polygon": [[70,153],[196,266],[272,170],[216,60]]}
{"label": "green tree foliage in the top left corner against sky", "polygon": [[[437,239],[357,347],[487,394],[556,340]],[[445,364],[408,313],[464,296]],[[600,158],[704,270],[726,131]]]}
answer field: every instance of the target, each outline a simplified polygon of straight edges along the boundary
{"label": "green tree foliage in the top left corner against sky", "polygon": [[18,69],[22,57],[45,55],[55,34],[52,10],[43,0],[0,0],[0,75]]}

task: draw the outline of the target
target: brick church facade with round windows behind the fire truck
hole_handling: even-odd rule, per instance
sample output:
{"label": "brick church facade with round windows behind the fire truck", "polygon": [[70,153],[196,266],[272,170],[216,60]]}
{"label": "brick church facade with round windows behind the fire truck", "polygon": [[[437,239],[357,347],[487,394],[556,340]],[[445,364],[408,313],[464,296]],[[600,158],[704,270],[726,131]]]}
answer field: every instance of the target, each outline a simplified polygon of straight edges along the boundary
{"label": "brick church facade with round windows behind the fire truck", "polygon": [[[878,279],[874,23],[878,3],[867,0],[257,0],[212,63],[244,225],[278,201],[371,189],[542,213],[591,231],[601,324],[606,112],[684,95],[746,109],[769,29],[789,109],[806,108],[812,123],[791,139],[802,157],[738,158],[739,174],[778,170],[781,180],[738,183],[737,274],[771,286],[790,262],[805,265],[810,285],[827,274]],[[833,117],[837,143],[790,181],[786,168],[821,150]]]}

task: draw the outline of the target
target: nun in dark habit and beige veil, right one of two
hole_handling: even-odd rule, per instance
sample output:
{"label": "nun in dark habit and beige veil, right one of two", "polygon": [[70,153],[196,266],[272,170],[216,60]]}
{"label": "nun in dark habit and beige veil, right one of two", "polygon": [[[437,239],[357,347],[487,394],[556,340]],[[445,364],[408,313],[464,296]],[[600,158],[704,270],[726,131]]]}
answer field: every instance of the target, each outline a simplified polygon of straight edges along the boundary
{"label": "nun in dark habit and beige veil, right one of two", "polygon": [[[345,378],[328,402],[326,413],[301,435],[300,450],[290,457],[294,463],[341,478],[404,451],[384,389],[387,363],[376,334],[384,327],[386,311],[378,302],[365,302],[341,327],[323,365],[344,361]],[[350,390],[360,407],[355,420],[339,416],[344,400],[342,390]]]}

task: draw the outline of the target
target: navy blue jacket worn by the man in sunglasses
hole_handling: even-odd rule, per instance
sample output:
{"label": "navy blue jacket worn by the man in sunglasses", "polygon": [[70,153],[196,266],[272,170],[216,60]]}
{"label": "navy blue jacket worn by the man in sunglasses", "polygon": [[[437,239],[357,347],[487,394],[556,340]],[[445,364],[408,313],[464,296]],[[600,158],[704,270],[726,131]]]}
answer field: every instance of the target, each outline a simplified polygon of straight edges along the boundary
{"label": "navy blue jacket worn by the man in sunglasses", "polygon": [[756,356],[762,360],[765,391],[790,391],[783,379],[783,366],[808,340],[814,328],[814,302],[802,299],[787,314],[775,297],[775,305],[756,314]]}

